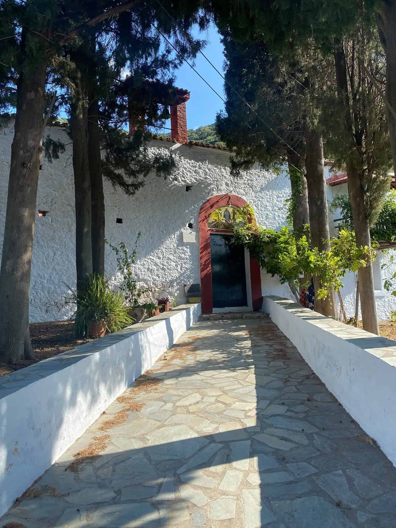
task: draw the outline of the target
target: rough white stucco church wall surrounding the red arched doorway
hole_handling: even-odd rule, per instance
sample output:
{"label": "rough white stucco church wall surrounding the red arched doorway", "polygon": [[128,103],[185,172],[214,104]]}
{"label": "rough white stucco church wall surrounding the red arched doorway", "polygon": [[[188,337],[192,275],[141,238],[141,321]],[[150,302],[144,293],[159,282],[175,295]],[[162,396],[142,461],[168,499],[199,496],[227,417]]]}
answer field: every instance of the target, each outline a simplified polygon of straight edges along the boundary
{"label": "rough white stucco church wall surrounding the red arched doorway", "polygon": [[[3,243],[7,201],[7,181],[10,171],[13,128],[0,136],[0,243]],[[51,127],[54,139],[70,143],[65,131]],[[142,232],[138,247],[136,275],[142,287],[153,289],[153,296],[176,295],[184,302],[184,284],[200,282],[198,217],[201,205],[209,197],[232,193],[252,203],[259,223],[277,229],[285,221],[282,206],[290,193],[286,174],[275,175],[254,168],[241,178],[233,178],[229,170],[230,153],[204,147],[177,145],[153,140],[153,154],[158,149],[172,149],[176,168],[168,181],[155,175],[135,196],[126,196],[105,182],[106,237],[112,244],[124,240],[133,248],[136,235]],[[186,185],[193,185],[186,192]],[[43,159],[37,194],[37,210],[49,211],[36,216],[32,277],[30,288],[30,320],[59,320],[70,317],[70,287],[76,282],[74,247],[74,185],[72,147],[52,164]],[[116,218],[124,223],[117,224]],[[183,243],[182,231],[193,222],[196,243]],[[106,274],[116,286],[116,259],[106,250]],[[276,278],[262,274],[265,295],[290,297],[286,286]]]}

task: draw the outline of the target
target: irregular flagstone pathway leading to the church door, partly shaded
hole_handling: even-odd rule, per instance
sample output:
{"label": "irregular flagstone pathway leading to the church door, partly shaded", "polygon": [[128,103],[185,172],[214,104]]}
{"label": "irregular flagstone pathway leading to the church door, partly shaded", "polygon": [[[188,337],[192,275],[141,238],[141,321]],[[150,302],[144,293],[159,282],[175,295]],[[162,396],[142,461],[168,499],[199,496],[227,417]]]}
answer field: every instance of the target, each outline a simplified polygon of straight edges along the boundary
{"label": "irregular flagstone pathway leading to the church door, partly shaded", "polygon": [[268,318],[201,320],[149,376],[0,526],[396,526],[396,469]]}

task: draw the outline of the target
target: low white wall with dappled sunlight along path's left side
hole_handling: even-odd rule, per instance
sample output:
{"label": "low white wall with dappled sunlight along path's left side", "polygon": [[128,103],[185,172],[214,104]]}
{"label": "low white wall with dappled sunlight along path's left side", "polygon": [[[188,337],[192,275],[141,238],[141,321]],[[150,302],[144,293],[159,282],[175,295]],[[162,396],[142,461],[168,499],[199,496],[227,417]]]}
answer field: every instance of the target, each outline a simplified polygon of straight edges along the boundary
{"label": "low white wall with dappled sunlight along path's left side", "polygon": [[0,378],[0,516],[200,314],[182,305]]}

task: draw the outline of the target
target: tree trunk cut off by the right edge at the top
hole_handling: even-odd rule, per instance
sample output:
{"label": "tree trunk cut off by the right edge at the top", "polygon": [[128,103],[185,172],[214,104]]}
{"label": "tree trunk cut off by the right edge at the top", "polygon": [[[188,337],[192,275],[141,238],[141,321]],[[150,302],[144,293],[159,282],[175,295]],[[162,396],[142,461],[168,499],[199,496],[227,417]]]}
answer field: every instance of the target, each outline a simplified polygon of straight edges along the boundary
{"label": "tree trunk cut off by the right edge at the top", "polygon": [[[377,24],[380,40],[386,55],[385,97],[396,111],[396,3],[376,2]],[[386,106],[389,138],[393,154],[393,168],[396,173],[396,118]]]}

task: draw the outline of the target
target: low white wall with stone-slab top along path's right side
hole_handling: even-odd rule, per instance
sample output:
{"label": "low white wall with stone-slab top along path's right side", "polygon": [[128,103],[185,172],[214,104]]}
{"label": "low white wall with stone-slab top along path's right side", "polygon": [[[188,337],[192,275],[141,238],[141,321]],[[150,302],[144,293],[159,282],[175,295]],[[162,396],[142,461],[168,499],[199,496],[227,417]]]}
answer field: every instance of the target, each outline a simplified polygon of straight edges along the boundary
{"label": "low white wall with stone-slab top along path's right side", "polygon": [[265,297],[263,312],[396,465],[396,342]]}

